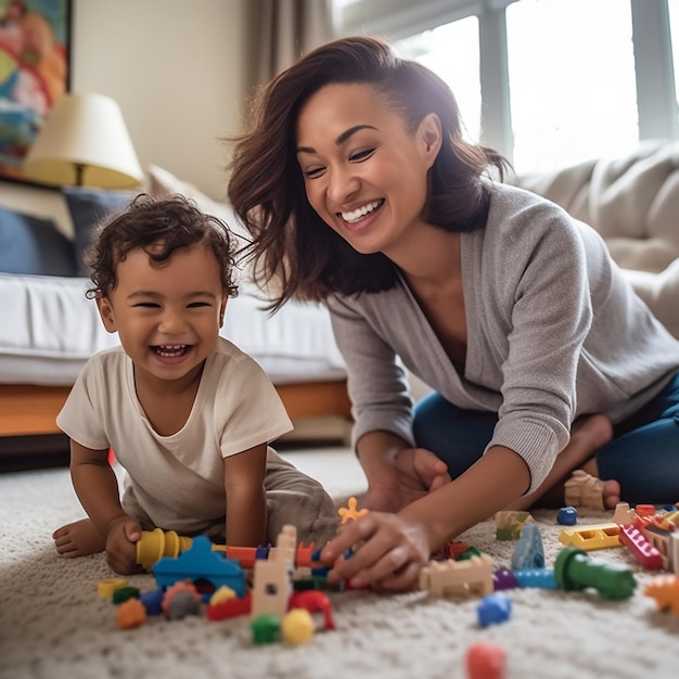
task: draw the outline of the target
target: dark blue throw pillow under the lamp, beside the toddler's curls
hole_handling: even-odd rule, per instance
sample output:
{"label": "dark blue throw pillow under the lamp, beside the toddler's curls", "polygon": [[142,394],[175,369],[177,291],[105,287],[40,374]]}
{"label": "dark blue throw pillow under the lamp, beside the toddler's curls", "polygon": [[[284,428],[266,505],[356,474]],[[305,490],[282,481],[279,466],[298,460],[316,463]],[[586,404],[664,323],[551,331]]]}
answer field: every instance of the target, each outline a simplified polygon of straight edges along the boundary
{"label": "dark blue throw pillow under the lamp, beside the toddler's curls", "polygon": [[90,243],[90,232],[102,219],[121,210],[133,194],[120,191],[105,191],[89,187],[66,187],[62,189],[71,213],[75,232],[74,246],[78,276],[89,276],[90,269],[82,261],[82,255]]}

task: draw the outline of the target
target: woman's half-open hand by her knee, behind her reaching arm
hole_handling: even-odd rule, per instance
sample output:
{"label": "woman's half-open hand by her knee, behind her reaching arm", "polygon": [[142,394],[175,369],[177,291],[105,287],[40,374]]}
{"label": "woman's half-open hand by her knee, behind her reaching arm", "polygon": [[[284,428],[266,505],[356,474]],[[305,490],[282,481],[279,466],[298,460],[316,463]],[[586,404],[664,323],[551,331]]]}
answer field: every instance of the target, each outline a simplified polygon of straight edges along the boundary
{"label": "woman's half-open hand by her knee, behind her reaching arm", "polygon": [[393,461],[364,469],[368,491],[361,505],[382,512],[398,512],[450,483],[446,463],[424,448],[403,448]]}

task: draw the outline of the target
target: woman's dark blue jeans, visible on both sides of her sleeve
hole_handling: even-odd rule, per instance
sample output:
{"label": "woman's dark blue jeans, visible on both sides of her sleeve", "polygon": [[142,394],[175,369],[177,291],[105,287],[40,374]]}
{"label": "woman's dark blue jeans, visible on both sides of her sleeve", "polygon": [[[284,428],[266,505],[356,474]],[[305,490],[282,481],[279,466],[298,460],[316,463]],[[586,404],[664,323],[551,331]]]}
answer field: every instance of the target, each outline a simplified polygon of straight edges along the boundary
{"label": "woman's dark blue jeans, visible on both sides of her sleeve", "polygon": [[[481,458],[497,422],[497,413],[458,408],[434,392],[415,406],[413,434],[418,447],[440,458],[456,478]],[[617,481],[625,502],[679,502],[679,373],[614,426],[595,460],[600,478]]]}

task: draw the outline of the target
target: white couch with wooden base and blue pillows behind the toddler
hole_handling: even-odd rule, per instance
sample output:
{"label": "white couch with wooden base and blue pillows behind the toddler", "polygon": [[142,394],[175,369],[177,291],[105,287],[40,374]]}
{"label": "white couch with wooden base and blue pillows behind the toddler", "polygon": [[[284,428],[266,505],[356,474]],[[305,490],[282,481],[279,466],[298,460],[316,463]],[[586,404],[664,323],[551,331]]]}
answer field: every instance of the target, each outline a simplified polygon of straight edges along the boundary
{"label": "white couch with wooden base and blue pillows behind the toddler", "polygon": [[[154,195],[181,193],[222,218],[233,214],[192,184],[148,168]],[[47,190],[5,182],[0,190],[0,458],[33,453],[56,441],[54,418],[87,359],[117,344],[103,329],[82,248],[97,220],[133,194],[89,188]],[[287,304],[271,317],[244,274],[229,300],[222,334],[253,356],[277,387],[293,421],[350,417],[344,362],[326,310]],[[1,467],[1,460],[0,460]]]}

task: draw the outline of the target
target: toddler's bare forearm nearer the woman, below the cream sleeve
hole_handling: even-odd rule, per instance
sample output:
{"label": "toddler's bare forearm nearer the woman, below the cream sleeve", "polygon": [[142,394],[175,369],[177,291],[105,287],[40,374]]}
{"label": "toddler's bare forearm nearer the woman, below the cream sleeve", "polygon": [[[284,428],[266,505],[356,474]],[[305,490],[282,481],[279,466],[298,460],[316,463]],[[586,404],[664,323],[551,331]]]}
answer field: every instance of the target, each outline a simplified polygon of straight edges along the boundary
{"label": "toddler's bare forearm nearer the woman, below the cream sleeve", "polygon": [[267,536],[267,495],[264,476],[267,444],[225,458],[227,545],[258,547]]}

